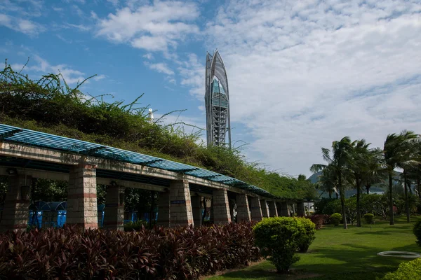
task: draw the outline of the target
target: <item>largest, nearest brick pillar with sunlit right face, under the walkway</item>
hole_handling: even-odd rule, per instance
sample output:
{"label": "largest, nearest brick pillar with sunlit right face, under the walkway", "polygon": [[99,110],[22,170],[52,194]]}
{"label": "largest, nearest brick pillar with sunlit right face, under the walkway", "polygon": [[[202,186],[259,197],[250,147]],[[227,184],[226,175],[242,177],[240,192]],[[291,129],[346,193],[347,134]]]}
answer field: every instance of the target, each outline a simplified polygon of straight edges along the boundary
{"label": "largest, nearest brick pillar with sunlit right face, under the walkway", "polygon": [[93,165],[81,164],[70,169],[66,223],[98,228],[96,169]]}

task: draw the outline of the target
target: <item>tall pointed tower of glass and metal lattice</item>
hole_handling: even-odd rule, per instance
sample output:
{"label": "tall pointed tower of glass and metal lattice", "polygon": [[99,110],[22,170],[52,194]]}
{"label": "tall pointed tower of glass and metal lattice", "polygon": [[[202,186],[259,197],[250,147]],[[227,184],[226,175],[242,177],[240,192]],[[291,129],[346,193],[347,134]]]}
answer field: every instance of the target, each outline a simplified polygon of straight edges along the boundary
{"label": "tall pointed tower of glass and metal lattice", "polygon": [[213,55],[207,52],[205,106],[208,146],[231,148],[228,92],[227,71],[218,50]]}

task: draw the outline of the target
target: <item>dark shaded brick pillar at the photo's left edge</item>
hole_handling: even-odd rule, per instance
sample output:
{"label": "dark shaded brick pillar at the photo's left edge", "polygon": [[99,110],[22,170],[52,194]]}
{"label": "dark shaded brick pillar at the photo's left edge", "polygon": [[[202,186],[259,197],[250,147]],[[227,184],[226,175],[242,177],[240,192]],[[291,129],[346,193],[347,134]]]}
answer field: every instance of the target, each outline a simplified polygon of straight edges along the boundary
{"label": "dark shaded brick pillar at the photo's left edge", "polygon": [[8,190],[4,200],[0,230],[26,230],[29,218],[31,176],[8,177]]}

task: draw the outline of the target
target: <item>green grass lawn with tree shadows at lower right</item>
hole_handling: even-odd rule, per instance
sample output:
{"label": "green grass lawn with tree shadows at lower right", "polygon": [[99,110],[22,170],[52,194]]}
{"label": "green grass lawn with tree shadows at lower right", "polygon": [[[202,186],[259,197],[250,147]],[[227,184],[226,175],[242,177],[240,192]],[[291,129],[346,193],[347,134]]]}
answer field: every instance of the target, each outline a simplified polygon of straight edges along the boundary
{"label": "green grass lawn with tree shadows at lower right", "polygon": [[376,276],[396,270],[401,261],[406,261],[380,257],[376,255],[378,252],[421,251],[415,244],[413,224],[408,225],[404,221],[404,218],[399,217],[396,218],[396,225],[376,221],[376,225],[363,225],[362,228],[349,226],[348,230],[328,225],[316,232],[316,239],[309,252],[300,254],[301,260],[292,267],[294,276],[276,274],[274,266],[264,261],[210,279],[374,280]]}

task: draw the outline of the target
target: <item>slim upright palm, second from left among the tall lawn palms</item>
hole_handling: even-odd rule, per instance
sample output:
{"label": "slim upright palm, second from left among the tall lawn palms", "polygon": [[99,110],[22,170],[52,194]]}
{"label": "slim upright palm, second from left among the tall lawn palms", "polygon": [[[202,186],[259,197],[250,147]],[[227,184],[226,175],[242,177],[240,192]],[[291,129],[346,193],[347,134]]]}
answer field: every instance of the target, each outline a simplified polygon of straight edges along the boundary
{"label": "slim upright palm, second from left among the tall lawn palms", "polygon": [[352,158],[349,161],[349,172],[351,172],[356,188],[356,226],[361,227],[361,183],[363,174],[368,172],[368,158],[370,156],[366,140],[356,140],[351,144]]}

